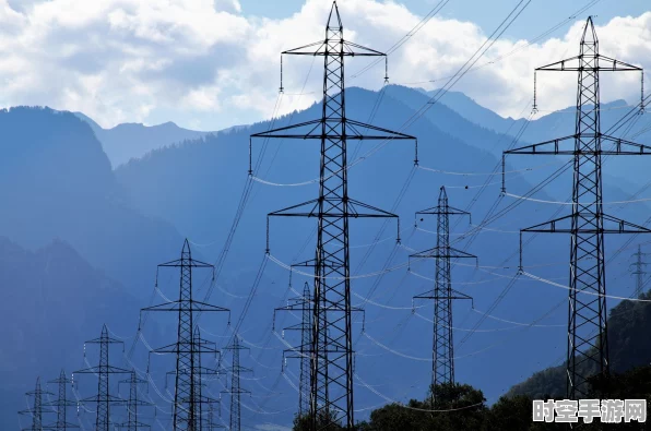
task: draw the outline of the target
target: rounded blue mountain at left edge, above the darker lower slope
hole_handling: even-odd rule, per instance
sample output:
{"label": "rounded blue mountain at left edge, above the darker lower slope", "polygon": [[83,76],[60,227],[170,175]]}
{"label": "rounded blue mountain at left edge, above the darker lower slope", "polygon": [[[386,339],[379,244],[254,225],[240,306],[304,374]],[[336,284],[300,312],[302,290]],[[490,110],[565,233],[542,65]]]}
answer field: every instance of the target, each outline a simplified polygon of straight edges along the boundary
{"label": "rounded blue mountain at left edge, above the darker lower slope", "polygon": [[0,235],[29,250],[61,238],[146,298],[156,264],[177,256],[182,238],[128,202],[88,124],[70,112],[16,107],[0,111]]}

